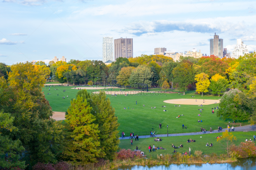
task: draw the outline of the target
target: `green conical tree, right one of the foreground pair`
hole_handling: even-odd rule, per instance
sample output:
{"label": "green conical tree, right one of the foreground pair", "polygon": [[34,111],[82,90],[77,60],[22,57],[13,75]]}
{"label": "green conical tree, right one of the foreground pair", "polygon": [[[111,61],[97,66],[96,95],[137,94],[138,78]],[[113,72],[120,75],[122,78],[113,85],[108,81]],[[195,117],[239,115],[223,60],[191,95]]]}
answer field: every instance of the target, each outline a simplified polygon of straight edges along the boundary
{"label": "green conical tree, right one of the foreground pair", "polygon": [[92,114],[95,115],[95,123],[99,125],[101,155],[111,159],[118,149],[119,123],[115,116],[115,109],[112,108],[109,98],[104,91],[92,95]]}

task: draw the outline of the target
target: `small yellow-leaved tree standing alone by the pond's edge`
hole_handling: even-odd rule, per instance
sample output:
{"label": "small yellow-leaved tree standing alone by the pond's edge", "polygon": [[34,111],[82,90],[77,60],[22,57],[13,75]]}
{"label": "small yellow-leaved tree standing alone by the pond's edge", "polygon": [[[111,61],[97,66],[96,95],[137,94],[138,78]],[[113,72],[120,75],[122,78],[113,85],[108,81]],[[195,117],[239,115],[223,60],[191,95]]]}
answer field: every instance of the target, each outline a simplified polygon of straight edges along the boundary
{"label": "small yellow-leaved tree standing alone by the pond's edge", "polygon": [[236,137],[231,132],[228,132],[228,130],[225,130],[225,132],[222,133],[222,136],[217,138],[217,142],[222,145],[223,149],[227,150],[227,153],[234,140],[236,140]]}

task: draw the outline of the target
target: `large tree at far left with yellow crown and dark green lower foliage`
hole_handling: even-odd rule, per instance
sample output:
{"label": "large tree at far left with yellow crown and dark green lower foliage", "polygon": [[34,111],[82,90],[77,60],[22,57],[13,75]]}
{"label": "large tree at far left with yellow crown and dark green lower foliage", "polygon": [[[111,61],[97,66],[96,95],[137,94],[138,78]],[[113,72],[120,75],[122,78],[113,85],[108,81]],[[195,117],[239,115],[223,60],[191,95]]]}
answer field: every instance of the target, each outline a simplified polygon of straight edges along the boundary
{"label": "large tree at far left with yellow crown and dark green lower foliage", "polygon": [[44,98],[44,75],[38,74],[32,63],[11,66],[8,81],[0,79],[0,110],[10,113],[17,131],[6,131],[12,139],[19,139],[26,149],[26,165],[55,162],[62,147],[62,127],[51,119],[52,109]]}

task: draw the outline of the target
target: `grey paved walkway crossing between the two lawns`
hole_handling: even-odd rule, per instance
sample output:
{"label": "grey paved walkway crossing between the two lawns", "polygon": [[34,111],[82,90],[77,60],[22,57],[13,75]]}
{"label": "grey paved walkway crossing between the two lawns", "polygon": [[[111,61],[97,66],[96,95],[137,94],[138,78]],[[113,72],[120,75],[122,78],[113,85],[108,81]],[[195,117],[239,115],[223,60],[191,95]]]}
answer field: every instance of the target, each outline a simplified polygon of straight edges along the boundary
{"label": "grey paved walkway crossing between the two lawns", "polygon": [[[212,130],[212,133],[222,133],[226,130],[225,129],[222,129],[222,131],[218,132],[218,130]],[[230,128],[230,131],[231,131],[231,128]],[[245,125],[245,126],[242,126],[242,127],[235,127],[235,131],[256,131],[256,128],[252,128],[251,125]],[[209,134],[210,131],[206,131],[206,134]],[[174,136],[188,136],[188,135],[204,135],[203,133],[201,132],[190,132],[190,133],[172,133],[172,134],[168,134],[169,137],[174,137]],[[149,138],[150,135],[143,135],[143,136],[139,136],[139,139],[140,138]],[[156,135],[156,137],[167,137],[167,134],[160,134],[160,135]],[[128,137],[119,137],[119,139],[129,139],[130,136]]]}

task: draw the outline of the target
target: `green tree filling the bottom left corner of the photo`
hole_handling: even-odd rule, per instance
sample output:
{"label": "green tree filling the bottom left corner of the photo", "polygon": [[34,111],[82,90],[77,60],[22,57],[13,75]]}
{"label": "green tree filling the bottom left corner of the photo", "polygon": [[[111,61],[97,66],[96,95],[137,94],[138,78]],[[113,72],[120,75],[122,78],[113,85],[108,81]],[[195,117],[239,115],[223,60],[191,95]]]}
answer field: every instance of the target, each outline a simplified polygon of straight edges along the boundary
{"label": "green tree filling the bottom left corner of the photo", "polygon": [[[13,126],[14,117],[9,113],[0,112],[0,129],[2,132],[17,131],[18,128]],[[24,147],[19,139],[12,140],[6,133],[0,133],[0,168],[15,168],[20,167],[24,169],[25,161],[21,161],[22,152]],[[6,159],[10,161],[6,161]]]}

